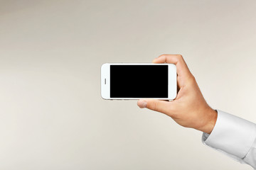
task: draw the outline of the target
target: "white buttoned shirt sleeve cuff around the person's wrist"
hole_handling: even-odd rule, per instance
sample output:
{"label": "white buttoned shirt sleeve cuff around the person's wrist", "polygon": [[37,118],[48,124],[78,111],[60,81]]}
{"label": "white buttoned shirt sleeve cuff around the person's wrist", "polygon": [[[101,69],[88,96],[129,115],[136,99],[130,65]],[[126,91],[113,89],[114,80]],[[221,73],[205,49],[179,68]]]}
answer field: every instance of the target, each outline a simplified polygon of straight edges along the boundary
{"label": "white buttoned shirt sleeve cuff around the person's wrist", "polygon": [[256,124],[217,111],[215,127],[210,135],[203,133],[203,143],[256,169]]}

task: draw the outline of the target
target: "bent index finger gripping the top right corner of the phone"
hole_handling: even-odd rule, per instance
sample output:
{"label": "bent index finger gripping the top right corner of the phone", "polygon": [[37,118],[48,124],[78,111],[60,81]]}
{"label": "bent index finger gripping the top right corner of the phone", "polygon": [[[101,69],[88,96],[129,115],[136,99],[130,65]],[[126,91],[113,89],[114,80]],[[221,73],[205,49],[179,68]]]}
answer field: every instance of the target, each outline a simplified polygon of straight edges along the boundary
{"label": "bent index finger gripping the top right corner of the phone", "polygon": [[188,66],[183,60],[182,55],[160,55],[153,60],[154,63],[171,63],[176,64],[177,74],[181,77],[191,76],[191,72],[188,69]]}

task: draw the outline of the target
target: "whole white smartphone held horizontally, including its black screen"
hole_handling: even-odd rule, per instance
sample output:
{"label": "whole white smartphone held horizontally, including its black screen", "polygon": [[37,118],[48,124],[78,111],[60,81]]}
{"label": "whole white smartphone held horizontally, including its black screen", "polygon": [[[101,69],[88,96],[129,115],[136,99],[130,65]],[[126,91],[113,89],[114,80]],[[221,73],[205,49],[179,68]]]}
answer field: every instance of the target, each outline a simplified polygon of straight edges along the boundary
{"label": "whole white smartphone held horizontally, including its black screen", "polygon": [[177,94],[175,64],[105,63],[101,67],[104,99],[172,100]]}

